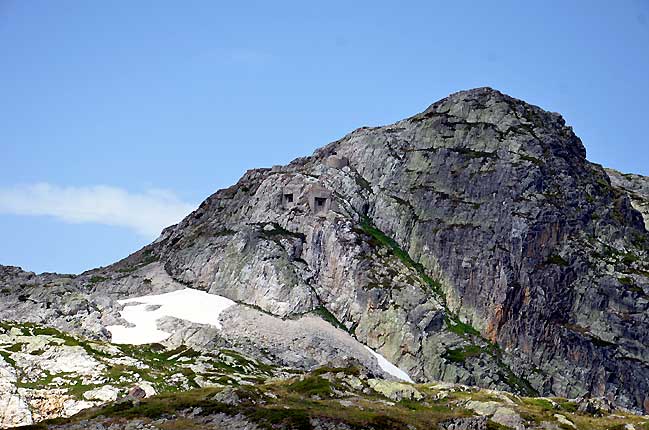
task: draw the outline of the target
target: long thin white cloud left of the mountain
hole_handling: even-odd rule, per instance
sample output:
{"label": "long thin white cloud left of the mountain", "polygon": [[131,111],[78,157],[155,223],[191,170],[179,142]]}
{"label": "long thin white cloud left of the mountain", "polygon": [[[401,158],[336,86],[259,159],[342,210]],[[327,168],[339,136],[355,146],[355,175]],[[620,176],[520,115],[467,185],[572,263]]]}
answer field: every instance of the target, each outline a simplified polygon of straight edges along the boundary
{"label": "long thin white cloud left of the mountain", "polygon": [[103,185],[61,187],[47,183],[0,188],[0,213],[127,227],[150,238],[193,209],[165,190],[131,193]]}

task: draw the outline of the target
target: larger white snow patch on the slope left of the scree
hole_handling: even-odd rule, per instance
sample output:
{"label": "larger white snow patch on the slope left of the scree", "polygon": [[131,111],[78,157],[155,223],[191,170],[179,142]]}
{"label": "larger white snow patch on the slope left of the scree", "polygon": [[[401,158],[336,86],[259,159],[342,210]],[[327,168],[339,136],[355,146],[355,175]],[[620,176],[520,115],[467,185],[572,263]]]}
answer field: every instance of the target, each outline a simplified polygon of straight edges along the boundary
{"label": "larger white snow patch on the slope left of the scree", "polygon": [[171,336],[171,333],[157,328],[156,323],[162,317],[174,317],[194,323],[209,324],[221,329],[219,315],[236,304],[228,298],[193,288],[152,296],[133,297],[120,300],[119,303],[137,303],[126,306],[120,312],[121,317],[135,327],[112,325],[106,328],[112,335],[113,343],[131,345],[161,342]]}

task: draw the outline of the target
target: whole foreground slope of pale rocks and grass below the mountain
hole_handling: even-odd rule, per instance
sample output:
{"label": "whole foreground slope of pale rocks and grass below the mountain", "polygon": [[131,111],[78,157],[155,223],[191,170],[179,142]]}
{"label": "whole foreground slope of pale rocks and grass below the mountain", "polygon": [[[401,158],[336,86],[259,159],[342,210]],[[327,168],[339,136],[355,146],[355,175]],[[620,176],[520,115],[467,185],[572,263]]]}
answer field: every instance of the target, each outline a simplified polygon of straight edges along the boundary
{"label": "whole foreground slope of pale rocks and grass below the mountain", "polygon": [[[33,323],[0,325],[1,428],[646,429],[606,399],[534,398],[381,378],[349,359],[311,372],[229,349],[114,345]],[[6,396],[10,392],[10,396]]]}

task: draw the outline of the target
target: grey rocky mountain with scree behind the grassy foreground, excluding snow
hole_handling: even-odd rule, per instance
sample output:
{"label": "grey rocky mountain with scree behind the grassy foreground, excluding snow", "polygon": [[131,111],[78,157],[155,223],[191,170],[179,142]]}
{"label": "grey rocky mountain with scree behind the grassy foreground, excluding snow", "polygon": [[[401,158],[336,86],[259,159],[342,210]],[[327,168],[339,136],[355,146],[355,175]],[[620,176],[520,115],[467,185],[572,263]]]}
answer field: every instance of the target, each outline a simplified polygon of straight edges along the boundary
{"label": "grey rocky mountain with scree behind the grassy foreground, excluding snow", "polygon": [[560,115],[464,91],[248,171],[112,266],[2,267],[0,315],[108,341],[117,300],[189,286],[238,305],[221,330],[161,321],[167,350],[381,375],[367,345],[419,383],[649,412],[648,190]]}

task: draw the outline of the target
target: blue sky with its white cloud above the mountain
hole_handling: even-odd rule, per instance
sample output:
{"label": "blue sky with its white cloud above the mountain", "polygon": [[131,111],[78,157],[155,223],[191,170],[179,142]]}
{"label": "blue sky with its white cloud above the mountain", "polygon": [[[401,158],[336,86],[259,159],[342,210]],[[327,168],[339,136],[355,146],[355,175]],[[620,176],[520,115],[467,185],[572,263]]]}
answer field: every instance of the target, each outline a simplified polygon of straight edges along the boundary
{"label": "blue sky with its white cloud above the mountain", "polygon": [[478,86],[649,175],[647,0],[0,0],[0,55],[0,264],[37,272],[109,264],[246,169]]}

